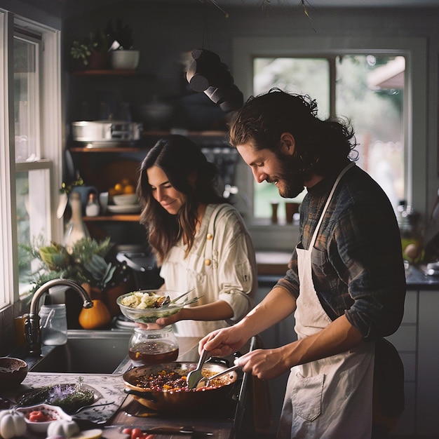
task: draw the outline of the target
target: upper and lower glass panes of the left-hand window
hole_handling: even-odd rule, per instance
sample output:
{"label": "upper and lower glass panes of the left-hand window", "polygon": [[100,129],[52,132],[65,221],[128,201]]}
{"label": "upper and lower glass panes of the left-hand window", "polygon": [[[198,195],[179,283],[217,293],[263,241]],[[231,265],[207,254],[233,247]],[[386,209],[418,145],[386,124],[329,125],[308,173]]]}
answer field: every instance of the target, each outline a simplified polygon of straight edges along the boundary
{"label": "upper and lower glass panes of the left-hand window", "polygon": [[[39,159],[39,41],[14,36],[14,122],[18,282],[20,293],[29,290],[32,261],[23,246],[50,234],[50,170]],[[31,169],[32,168],[32,169]]]}

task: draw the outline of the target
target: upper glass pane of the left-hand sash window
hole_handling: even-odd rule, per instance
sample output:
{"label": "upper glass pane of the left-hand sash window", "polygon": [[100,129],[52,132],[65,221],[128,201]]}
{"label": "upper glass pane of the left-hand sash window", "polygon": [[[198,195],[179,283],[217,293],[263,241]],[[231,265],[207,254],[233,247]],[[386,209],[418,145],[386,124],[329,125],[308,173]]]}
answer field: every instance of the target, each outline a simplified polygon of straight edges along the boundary
{"label": "upper glass pane of the left-hand sash window", "polygon": [[39,155],[37,46],[14,38],[15,161]]}

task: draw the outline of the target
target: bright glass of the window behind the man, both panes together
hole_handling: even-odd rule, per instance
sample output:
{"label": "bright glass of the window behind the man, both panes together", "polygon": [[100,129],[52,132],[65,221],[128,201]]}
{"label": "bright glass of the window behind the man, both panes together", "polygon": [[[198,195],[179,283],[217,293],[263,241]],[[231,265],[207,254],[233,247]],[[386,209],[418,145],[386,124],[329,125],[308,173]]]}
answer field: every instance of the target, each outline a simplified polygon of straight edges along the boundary
{"label": "bright glass of the window behind the man, both panes together", "polygon": [[[396,208],[405,194],[405,58],[371,54],[255,58],[253,65],[255,95],[265,93],[273,86],[290,93],[308,94],[318,102],[320,119],[329,116],[349,119],[358,142],[358,165],[377,180]],[[330,93],[331,90],[335,93]],[[273,184],[255,182],[253,190],[253,215],[256,219],[269,217],[269,203],[275,200],[282,206],[285,203]],[[305,193],[295,201],[300,203]],[[285,218],[284,209],[279,210],[278,217]]]}

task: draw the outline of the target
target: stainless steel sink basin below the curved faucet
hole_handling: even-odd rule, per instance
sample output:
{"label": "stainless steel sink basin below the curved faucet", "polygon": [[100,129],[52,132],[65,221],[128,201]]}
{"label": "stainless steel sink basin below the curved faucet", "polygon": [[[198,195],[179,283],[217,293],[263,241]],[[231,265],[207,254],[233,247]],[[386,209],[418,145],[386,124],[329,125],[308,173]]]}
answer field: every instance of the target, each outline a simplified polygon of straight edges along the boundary
{"label": "stainless steel sink basin below the curved faucet", "polygon": [[43,346],[43,356],[29,372],[122,374],[131,366],[131,335],[126,331],[69,330],[66,344]]}

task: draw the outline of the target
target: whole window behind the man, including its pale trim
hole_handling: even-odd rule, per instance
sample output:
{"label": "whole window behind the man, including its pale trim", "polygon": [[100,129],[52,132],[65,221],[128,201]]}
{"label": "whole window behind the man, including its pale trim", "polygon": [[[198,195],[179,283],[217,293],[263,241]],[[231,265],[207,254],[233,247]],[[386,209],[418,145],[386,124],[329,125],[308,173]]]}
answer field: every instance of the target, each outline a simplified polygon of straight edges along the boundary
{"label": "whole window behind the man, including its pale trim", "polygon": [[[244,96],[264,93],[273,86],[309,94],[318,102],[320,118],[336,115],[351,119],[360,143],[358,165],[375,180],[381,179],[394,205],[400,198],[409,203],[425,198],[425,181],[414,184],[412,179],[424,166],[426,154],[425,123],[418,125],[412,119],[416,115],[419,121],[418,114],[426,114],[426,92],[420,86],[426,79],[423,39],[243,38],[234,41],[234,57],[235,83]],[[373,78],[374,72],[393,64],[402,72],[403,78],[398,77],[402,88],[381,81],[377,90],[380,81],[378,74]],[[386,124],[381,123],[383,115]],[[417,144],[419,156],[412,156],[413,144]],[[256,248],[274,245],[291,250],[294,226],[288,231],[288,227],[269,223],[273,199],[280,203],[278,217],[285,215],[285,199],[278,196],[276,187],[256,184],[245,165],[239,168],[237,185],[248,196],[245,219]],[[423,208],[421,205],[420,210]],[[267,228],[268,224],[271,227]]]}

